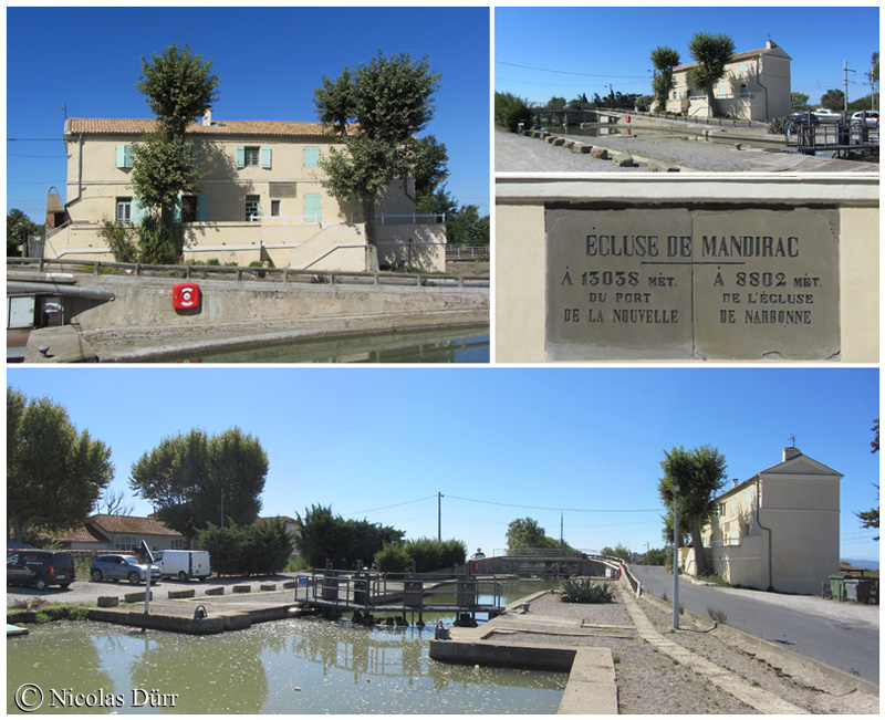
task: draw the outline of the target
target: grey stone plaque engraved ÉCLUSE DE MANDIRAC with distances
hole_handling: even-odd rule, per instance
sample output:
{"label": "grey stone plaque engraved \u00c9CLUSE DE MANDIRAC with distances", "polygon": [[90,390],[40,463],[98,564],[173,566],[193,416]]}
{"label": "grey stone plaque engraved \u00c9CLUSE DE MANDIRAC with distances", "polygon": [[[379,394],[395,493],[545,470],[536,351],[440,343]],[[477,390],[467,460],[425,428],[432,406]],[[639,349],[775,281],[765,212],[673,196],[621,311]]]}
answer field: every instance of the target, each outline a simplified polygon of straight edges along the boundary
{"label": "grey stone plaque engraved \u00c9CLUSE DE MANDIRAC with distances", "polygon": [[546,357],[837,359],[839,211],[550,204]]}

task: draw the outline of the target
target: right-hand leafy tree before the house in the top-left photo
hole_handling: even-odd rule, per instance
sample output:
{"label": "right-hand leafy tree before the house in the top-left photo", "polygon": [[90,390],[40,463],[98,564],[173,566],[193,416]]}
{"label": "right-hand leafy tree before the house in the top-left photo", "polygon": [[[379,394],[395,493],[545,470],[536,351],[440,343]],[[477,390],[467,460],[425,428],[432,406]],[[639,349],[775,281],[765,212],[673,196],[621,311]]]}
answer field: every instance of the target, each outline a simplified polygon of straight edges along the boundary
{"label": "right-hand leafy tree before the house in the top-left photo", "polygon": [[329,176],[324,186],[339,200],[355,198],[362,205],[369,270],[378,268],[375,204],[393,181],[415,174],[423,157],[416,135],[434,116],[440,77],[426,56],[378,52],[356,71],[345,69],[335,80],[323,76],[313,91],[317,117],[342,144],[320,161]]}

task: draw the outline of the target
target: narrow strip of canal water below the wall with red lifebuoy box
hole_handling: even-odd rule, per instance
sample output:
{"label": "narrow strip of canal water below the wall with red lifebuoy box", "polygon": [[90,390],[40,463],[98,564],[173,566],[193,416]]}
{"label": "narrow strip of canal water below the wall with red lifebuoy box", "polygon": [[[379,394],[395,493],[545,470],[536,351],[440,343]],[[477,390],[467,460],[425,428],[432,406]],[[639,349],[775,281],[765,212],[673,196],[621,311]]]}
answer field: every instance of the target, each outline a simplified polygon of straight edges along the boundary
{"label": "narrow strip of canal water below the wall with red lifebuoy box", "polygon": [[488,325],[352,335],[171,355],[169,363],[488,363]]}

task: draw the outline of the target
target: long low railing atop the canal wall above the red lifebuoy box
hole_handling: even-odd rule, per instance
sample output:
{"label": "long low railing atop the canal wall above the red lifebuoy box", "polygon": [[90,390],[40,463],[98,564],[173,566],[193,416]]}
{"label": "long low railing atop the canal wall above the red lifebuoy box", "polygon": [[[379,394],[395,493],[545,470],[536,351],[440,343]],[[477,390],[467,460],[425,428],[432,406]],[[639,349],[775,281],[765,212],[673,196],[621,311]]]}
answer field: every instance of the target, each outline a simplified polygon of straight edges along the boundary
{"label": "long low railing atop the canal wall above the red lifebuoy box", "polygon": [[488,275],[447,275],[407,272],[357,272],[343,270],[295,270],[292,268],[242,268],[225,265],[152,265],[106,262],[103,260],[55,260],[48,258],[7,258],[7,267],[18,265],[46,272],[48,268],[72,273],[100,275],[115,271],[119,278],[212,279],[331,285],[402,285],[424,288],[488,288]]}

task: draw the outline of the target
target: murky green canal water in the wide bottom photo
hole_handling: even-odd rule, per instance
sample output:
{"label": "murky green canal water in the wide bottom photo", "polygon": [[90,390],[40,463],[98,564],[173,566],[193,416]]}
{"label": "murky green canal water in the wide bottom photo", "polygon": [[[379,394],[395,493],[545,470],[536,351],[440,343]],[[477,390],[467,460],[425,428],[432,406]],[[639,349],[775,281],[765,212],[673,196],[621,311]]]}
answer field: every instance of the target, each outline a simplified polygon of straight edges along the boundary
{"label": "murky green canal water in the wide bottom photo", "polygon": [[[508,597],[541,587],[529,586]],[[15,692],[33,684],[39,712],[556,712],[565,674],[430,660],[425,619],[419,629],[293,618],[207,637],[94,622],[30,626],[7,640],[7,711],[19,712]]]}

